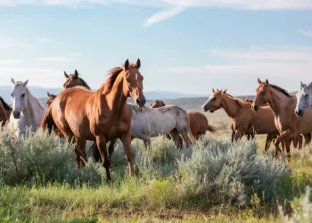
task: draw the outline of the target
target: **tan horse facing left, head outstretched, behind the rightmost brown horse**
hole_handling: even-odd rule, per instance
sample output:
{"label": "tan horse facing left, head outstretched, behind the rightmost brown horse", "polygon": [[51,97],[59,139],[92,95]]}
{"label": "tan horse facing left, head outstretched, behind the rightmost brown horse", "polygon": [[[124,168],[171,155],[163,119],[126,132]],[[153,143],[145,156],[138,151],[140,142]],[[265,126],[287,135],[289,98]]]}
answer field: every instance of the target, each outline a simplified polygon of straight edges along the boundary
{"label": "tan horse facing left, head outstretched, behind the rightmost brown horse", "polygon": [[242,102],[225,91],[212,89],[212,95],[202,105],[203,111],[214,112],[222,108],[231,120],[232,142],[242,138],[244,135],[254,136],[267,134],[265,151],[268,150],[271,141],[278,135],[274,123],[274,114],[268,106],[262,106],[259,113],[251,110],[251,103]]}

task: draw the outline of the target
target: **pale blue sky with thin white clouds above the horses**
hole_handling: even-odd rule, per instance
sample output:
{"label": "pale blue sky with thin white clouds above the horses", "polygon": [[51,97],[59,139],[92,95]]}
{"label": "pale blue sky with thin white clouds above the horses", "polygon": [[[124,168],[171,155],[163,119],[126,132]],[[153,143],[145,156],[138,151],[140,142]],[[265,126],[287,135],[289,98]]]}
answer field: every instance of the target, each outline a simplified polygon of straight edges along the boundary
{"label": "pale blue sky with thin white clouds above the horses", "polygon": [[140,58],[144,91],[295,91],[312,81],[311,21],[311,0],[0,0],[0,85],[62,87],[76,69],[97,89]]}

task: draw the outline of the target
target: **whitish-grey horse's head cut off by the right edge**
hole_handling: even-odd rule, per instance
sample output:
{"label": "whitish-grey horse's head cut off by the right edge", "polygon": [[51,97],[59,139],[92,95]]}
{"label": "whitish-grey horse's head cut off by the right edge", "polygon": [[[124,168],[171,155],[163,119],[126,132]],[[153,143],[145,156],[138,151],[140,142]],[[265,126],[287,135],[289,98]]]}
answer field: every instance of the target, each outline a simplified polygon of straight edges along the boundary
{"label": "whitish-grey horse's head cut off by the right edge", "polygon": [[312,82],[309,85],[305,85],[300,82],[300,89],[297,92],[297,105],[295,113],[297,116],[302,116],[308,106],[312,105]]}

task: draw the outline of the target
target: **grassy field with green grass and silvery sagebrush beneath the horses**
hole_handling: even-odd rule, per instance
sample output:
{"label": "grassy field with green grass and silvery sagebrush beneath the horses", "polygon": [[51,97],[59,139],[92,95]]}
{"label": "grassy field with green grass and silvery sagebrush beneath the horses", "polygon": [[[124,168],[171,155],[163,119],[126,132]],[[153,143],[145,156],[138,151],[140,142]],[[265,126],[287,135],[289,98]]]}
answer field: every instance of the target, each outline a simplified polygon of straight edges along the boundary
{"label": "grassy field with green grass and silvery sagebrush beneath the horses", "polygon": [[[165,103],[201,111],[205,100]],[[38,130],[16,142],[2,129],[0,222],[311,222],[312,149],[287,164],[273,145],[263,152],[264,136],[232,145],[224,111],[205,114],[218,133],[182,152],[161,136],[148,150],[134,140],[134,177],[116,145],[111,185],[92,158],[77,171],[62,139]]]}

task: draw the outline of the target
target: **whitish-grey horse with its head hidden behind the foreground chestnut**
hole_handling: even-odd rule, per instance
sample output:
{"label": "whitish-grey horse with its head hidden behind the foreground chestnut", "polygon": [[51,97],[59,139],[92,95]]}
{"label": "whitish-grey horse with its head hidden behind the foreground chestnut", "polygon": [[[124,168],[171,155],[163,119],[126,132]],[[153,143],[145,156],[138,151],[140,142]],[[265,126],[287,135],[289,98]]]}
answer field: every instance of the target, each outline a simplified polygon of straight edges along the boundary
{"label": "whitish-grey horse with its head hidden behind the foreground chestnut", "polygon": [[175,105],[167,105],[160,108],[144,106],[138,108],[129,104],[131,109],[131,136],[140,138],[144,145],[150,145],[150,137],[163,136],[177,128],[177,134],[171,132],[170,136],[177,145],[177,138],[180,134],[186,145],[193,143],[193,135],[190,129],[190,117],[182,108]]}

